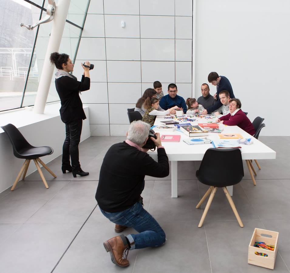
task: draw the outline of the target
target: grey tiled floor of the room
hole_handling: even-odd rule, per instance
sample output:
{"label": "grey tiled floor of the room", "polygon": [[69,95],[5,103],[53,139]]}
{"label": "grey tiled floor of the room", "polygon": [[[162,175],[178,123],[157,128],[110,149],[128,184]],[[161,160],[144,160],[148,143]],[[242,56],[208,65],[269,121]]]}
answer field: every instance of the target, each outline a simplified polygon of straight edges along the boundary
{"label": "grey tiled floor of the room", "polygon": [[[257,186],[244,166],[244,179],[234,186],[233,196],[244,228],[221,189],[203,227],[197,227],[202,209],[195,206],[207,190],[195,177],[200,162],[178,164],[179,198],[170,197],[170,176],[146,177],[145,208],[163,227],[167,241],[160,248],[129,251],[130,266],[119,268],[103,247],[116,236],[114,224],[101,214],[94,195],[104,154],[124,139],[90,137],[80,144],[87,177],[62,174],[57,157],[48,164],[57,178],[43,171],[49,189],[33,173],[13,192],[0,194],[0,272],[270,272],[247,264],[255,227],[279,232],[275,272],[290,272],[290,137],[259,138],[277,158],[259,160]],[[134,230],[125,230],[130,233]]]}

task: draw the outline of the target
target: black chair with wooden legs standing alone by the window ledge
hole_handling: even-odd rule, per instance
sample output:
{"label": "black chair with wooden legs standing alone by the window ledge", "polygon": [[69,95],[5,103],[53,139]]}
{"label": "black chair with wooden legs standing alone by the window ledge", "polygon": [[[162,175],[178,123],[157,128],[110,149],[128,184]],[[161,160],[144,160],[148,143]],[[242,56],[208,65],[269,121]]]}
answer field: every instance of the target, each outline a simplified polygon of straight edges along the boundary
{"label": "black chair with wooden legs standing alone by the window ledge", "polygon": [[51,147],[48,147],[48,146],[34,147],[34,146],[30,145],[27,142],[27,140],[24,138],[22,133],[20,133],[19,130],[13,124],[9,123],[5,126],[1,126],[1,128],[4,130],[4,132],[9,137],[9,140],[10,140],[12,147],[13,147],[13,153],[14,153],[15,157],[25,159],[25,162],[23,163],[11,190],[15,189],[22,173],[23,173],[22,180],[25,178],[26,172],[27,172],[28,167],[29,167],[30,160],[32,160],[32,159],[36,165],[36,168],[40,174],[40,177],[43,180],[44,186],[48,189],[48,185],[47,185],[46,180],[43,176],[42,170],[39,167],[38,162],[44,168],[46,168],[46,170],[48,170],[49,173],[52,174],[53,177],[56,177],[56,175],[43,163],[43,161],[41,161],[39,159],[39,157],[43,157],[45,155],[52,154],[53,149]]}

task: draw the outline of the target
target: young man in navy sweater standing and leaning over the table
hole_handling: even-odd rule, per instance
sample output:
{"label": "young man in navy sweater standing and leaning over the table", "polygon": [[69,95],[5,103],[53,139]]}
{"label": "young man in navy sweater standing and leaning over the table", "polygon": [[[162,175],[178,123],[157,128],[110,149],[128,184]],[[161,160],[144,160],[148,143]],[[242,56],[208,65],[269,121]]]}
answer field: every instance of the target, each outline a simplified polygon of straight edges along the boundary
{"label": "young man in navy sweater standing and leaning over the table", "polygon": [[225,76],[219,76],[217,72],[210,72],[207,79],[212,85],[217,86],[217,93],[215,93],[213,96],[216,99],[216,103],[213,106],[204,110],[202,112],[203,115],[206,115],[207,113],[212,113],[218,108],[220,108],[220,106],[223,105],[220,102],[220,97],[219,97],[219,93],[221,91],[224,91],[224,90],[228,91],[230,93],[231,99],[235,97],[230,81]]}

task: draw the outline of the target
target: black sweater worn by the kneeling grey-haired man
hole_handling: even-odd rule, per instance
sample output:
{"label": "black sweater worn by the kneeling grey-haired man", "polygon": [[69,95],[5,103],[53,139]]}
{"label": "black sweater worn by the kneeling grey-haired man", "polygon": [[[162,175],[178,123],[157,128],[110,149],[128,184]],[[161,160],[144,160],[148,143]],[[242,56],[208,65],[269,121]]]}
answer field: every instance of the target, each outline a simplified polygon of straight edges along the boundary
{"label": "black sweater worn by the kneeling grey-haired man", "polygon": [[124,211],[138,201],[145,175],[169,175],[165,149],[159,148],[157,153],[158,162],[125,142],[112,145],[100,171],[96,192],[100,208],[106,212]]}

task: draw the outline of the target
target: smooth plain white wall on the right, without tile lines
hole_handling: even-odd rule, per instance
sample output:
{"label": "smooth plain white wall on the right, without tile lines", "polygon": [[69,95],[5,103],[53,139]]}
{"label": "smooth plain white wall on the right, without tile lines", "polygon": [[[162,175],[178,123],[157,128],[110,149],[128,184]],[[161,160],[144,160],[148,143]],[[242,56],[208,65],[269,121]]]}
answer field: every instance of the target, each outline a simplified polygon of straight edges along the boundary
{"label": "smooth plain white wall on the right, without tile lines", "polygon": [[[288,115],[288,0],[196,0],[196,50],[193,94],[208,83],[209,72],[226,76],[251,121],[264,117],[260,135],[289,136],[277,116]],[[284,84],[283,84],[284,83]],[[211,94],[216,87],[210,86]],[[275,128],[275,129],[274,129]]]}

